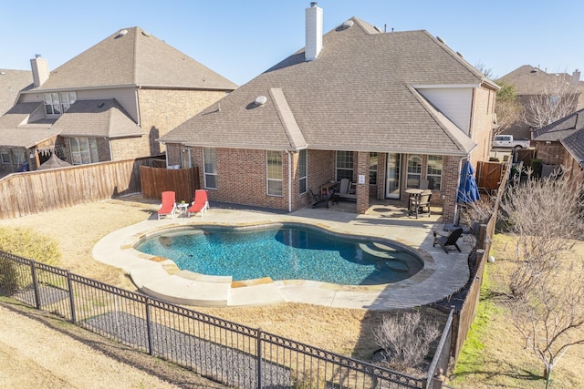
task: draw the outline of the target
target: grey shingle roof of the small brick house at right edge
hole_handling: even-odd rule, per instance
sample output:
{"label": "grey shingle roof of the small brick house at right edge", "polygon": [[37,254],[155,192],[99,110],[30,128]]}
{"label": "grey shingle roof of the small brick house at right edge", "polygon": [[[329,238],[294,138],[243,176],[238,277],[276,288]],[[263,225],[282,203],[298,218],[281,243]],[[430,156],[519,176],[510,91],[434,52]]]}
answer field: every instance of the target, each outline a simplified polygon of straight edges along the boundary
{"label": "grey shingle roof of the small brick house at right edge", "polygon": [[537,129],[533,139],[560,142],[580,166],[584,166],[584,109]]}

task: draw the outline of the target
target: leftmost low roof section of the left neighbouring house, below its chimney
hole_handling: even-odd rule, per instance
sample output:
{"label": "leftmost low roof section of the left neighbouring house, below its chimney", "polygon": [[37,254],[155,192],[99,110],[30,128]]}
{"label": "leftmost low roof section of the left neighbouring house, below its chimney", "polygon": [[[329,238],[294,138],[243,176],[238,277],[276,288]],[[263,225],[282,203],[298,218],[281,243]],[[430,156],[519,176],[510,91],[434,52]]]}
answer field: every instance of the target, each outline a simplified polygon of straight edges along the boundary
{"label": "leftmost low roof section of the left neighbouring house, below its chimney", "polygon": [[0,117],[0,145],[6,147],[32,148],[57,136],[51,128],[55,119],[29,122],[30,116],[44,103],[20,103]]}

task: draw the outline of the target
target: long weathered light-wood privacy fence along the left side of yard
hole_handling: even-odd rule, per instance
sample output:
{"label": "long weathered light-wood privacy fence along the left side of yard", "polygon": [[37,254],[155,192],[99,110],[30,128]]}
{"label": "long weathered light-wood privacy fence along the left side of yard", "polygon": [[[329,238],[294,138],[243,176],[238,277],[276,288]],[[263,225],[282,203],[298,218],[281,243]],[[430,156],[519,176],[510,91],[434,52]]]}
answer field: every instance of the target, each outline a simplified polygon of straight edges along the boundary
{"label": "long weathered light-wood privacy fence along the left side of yard", "polygon": [[0,179],[0,219],[14,219],[141,190],[140,165],[149,159],[35,170]]}

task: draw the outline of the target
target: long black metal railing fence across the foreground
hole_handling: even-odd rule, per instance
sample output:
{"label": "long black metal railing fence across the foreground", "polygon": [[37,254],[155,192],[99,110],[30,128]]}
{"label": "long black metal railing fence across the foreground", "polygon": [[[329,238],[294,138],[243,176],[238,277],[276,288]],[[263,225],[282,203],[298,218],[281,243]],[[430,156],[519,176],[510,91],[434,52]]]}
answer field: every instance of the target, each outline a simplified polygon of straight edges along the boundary
{"label": "long black metal railing fence across the foreground", "polygon": [[428,377],[416,378],[3,251],[0,292],[239,388],[426,388],[450,356],[452,313]]}

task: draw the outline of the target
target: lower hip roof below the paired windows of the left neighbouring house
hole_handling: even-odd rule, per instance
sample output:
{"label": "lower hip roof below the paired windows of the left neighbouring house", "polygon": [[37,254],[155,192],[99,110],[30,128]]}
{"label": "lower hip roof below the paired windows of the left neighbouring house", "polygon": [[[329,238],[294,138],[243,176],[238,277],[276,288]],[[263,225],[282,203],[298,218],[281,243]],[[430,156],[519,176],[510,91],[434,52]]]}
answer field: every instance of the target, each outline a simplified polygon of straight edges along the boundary
{"label": "lower hip roof below the paired windows of the left neighbouring house", "polygon": [[53,126],[61,137],[136,137],[144,135],[115,98],[77,100]]}

